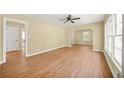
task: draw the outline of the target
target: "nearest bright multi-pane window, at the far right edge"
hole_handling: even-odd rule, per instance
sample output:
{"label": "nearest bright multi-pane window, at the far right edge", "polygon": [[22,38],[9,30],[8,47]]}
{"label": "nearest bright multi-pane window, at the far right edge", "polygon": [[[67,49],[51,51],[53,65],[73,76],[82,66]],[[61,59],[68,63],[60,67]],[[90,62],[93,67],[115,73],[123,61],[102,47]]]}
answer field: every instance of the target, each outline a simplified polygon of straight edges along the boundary
{"label": "nearest bright multi-pane window, at the far right edge", "polygon": [[114,59],[122,64],[122,16],[116,15],[116,30],[113,35],[114,38]]}

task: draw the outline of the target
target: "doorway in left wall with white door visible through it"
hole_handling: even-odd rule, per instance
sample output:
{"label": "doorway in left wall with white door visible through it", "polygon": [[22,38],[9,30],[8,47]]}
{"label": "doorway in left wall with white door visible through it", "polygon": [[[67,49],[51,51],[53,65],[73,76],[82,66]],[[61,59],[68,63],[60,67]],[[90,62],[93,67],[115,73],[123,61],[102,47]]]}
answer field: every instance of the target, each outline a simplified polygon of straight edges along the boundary
{"label": "doorway in left wall with white door visible through it", "polygon": [[27,56],[27,22],[4,17],[3,63],[7,60],[7,53],[16,51]]}

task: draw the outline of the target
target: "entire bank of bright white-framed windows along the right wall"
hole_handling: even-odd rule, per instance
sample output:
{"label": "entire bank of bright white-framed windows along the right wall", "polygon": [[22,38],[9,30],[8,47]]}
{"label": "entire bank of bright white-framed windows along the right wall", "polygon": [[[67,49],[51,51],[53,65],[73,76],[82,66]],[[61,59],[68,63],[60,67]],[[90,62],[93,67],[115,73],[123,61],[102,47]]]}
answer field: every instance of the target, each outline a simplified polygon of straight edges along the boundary
{"label": "entire bank of bright white-framed windows along the right wall", "polygon": [[111,15],[105,24],[105,51],[122,65],[122,15]]}

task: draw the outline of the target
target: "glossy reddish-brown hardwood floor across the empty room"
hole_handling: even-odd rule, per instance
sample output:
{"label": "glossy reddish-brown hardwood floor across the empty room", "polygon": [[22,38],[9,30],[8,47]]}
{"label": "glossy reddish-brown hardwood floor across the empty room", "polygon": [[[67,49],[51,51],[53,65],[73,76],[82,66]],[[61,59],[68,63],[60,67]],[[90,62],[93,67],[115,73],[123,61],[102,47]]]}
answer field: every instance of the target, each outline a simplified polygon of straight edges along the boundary
{"label": "glossy reddish-brown hardwood floor across the empty room", "polygon": [[103,53],[90,46],[74,45],[25,58],[21,52],[7,54],[0,66],[5,78],[111,78]]}

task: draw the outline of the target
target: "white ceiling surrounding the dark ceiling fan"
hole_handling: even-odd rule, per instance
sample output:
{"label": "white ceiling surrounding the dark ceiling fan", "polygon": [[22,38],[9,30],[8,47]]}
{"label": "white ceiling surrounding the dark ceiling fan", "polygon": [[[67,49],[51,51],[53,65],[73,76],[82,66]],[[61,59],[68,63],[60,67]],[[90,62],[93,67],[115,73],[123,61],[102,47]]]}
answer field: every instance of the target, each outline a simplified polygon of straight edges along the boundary
{"label": "white ceiling surrounding the dark ceiling fan", "polygon": [[30,16],[46,19],[52,22],[55,22],[57,24],[61,24],[63,26],[77,26],[77,25],[83,25],[83,24],[90,24],[90,23],[96,23],[101,22],[104,20],[104,14],[71,14],[72,17],[80,17],[80,20],[75,20],[75,24],[72,24],[70,22],[63,24],[63,19],[68,16],[68,14],[30,14]]}

